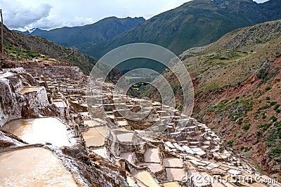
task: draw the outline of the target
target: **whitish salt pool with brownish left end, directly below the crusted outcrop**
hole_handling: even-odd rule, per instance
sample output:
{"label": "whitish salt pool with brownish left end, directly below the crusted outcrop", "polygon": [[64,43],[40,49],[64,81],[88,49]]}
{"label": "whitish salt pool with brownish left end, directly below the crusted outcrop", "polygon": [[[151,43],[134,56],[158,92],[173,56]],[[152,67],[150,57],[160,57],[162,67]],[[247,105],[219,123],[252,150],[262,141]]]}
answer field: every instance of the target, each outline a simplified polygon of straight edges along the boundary
{"label": "whitish salt pool with brownish left end, directly below the crusted outcrop", "polygon": [[28,144],[48,142],[58,147],[71,146],[67,138],[67,127],[57,118],[11,120],[2,128]]}

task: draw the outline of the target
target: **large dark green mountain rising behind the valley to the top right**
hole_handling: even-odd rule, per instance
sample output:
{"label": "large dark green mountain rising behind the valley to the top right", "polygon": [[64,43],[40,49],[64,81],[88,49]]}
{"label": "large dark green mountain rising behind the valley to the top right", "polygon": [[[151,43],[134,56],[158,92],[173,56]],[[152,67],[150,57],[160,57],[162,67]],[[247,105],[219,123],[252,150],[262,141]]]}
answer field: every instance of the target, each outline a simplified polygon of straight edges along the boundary
{"label": "large dark green mountain rising behind the valley to the top right", "polygon": [[166,47],[176,55],[204,46],[240,27],[281,18],[281,1],[257,4],[252,0],[193,0],[166,11],[100,43],[83,43],[79,51],[100,58],[128,43],[148,42]]}

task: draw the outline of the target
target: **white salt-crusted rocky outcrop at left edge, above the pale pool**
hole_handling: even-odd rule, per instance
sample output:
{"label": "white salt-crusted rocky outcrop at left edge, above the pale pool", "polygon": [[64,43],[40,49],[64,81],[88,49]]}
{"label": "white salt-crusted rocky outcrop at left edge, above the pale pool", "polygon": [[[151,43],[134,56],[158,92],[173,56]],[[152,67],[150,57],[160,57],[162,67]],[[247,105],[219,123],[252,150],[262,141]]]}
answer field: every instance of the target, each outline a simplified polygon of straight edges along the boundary
{"label": "white salt-crusted rocky outcrop at left edge, above the pale pool", "polygon": [[39,116],[59,116],[48,102],[46,88],[34,87],[35,80],[24,69],[0,72],[0,127],[10,120]]}

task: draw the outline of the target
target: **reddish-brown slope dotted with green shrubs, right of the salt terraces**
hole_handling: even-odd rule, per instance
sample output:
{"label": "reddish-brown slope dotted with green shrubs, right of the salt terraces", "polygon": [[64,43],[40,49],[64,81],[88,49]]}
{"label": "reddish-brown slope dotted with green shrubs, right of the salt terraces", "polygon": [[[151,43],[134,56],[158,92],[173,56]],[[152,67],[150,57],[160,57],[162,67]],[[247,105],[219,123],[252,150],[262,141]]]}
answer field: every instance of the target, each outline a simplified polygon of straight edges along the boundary
{"label": "reddish-brown slope dotted with green shrubs, right of the salt terraces", "polygon": [[[180,55],[195,87],[193,116],[263,171],[281,176],[281,20],[230,32]],[[182,109],[181,85],[163,76]],[[159,99],[156,90],[144,90]],[[261,153],[265,153],[261,155]]]}

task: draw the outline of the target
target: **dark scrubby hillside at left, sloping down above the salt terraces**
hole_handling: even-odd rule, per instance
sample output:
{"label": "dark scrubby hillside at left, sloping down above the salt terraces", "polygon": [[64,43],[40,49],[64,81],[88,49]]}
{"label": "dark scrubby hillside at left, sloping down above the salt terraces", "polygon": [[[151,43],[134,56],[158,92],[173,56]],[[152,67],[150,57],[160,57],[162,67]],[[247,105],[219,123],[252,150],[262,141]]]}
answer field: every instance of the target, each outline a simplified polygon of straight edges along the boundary
{"label": "dark scrubby hillside at left, sloping down above the salt terraces", "polygon": [[7,27],[4,27],[4,51],[7,57],[14,58],[13,61],[30,59],[44,54],[62,63],[80,67],[84,74],[89,74],[93,64],[97,61],[72,48],[59,46],[39,36],[13,32]]}

